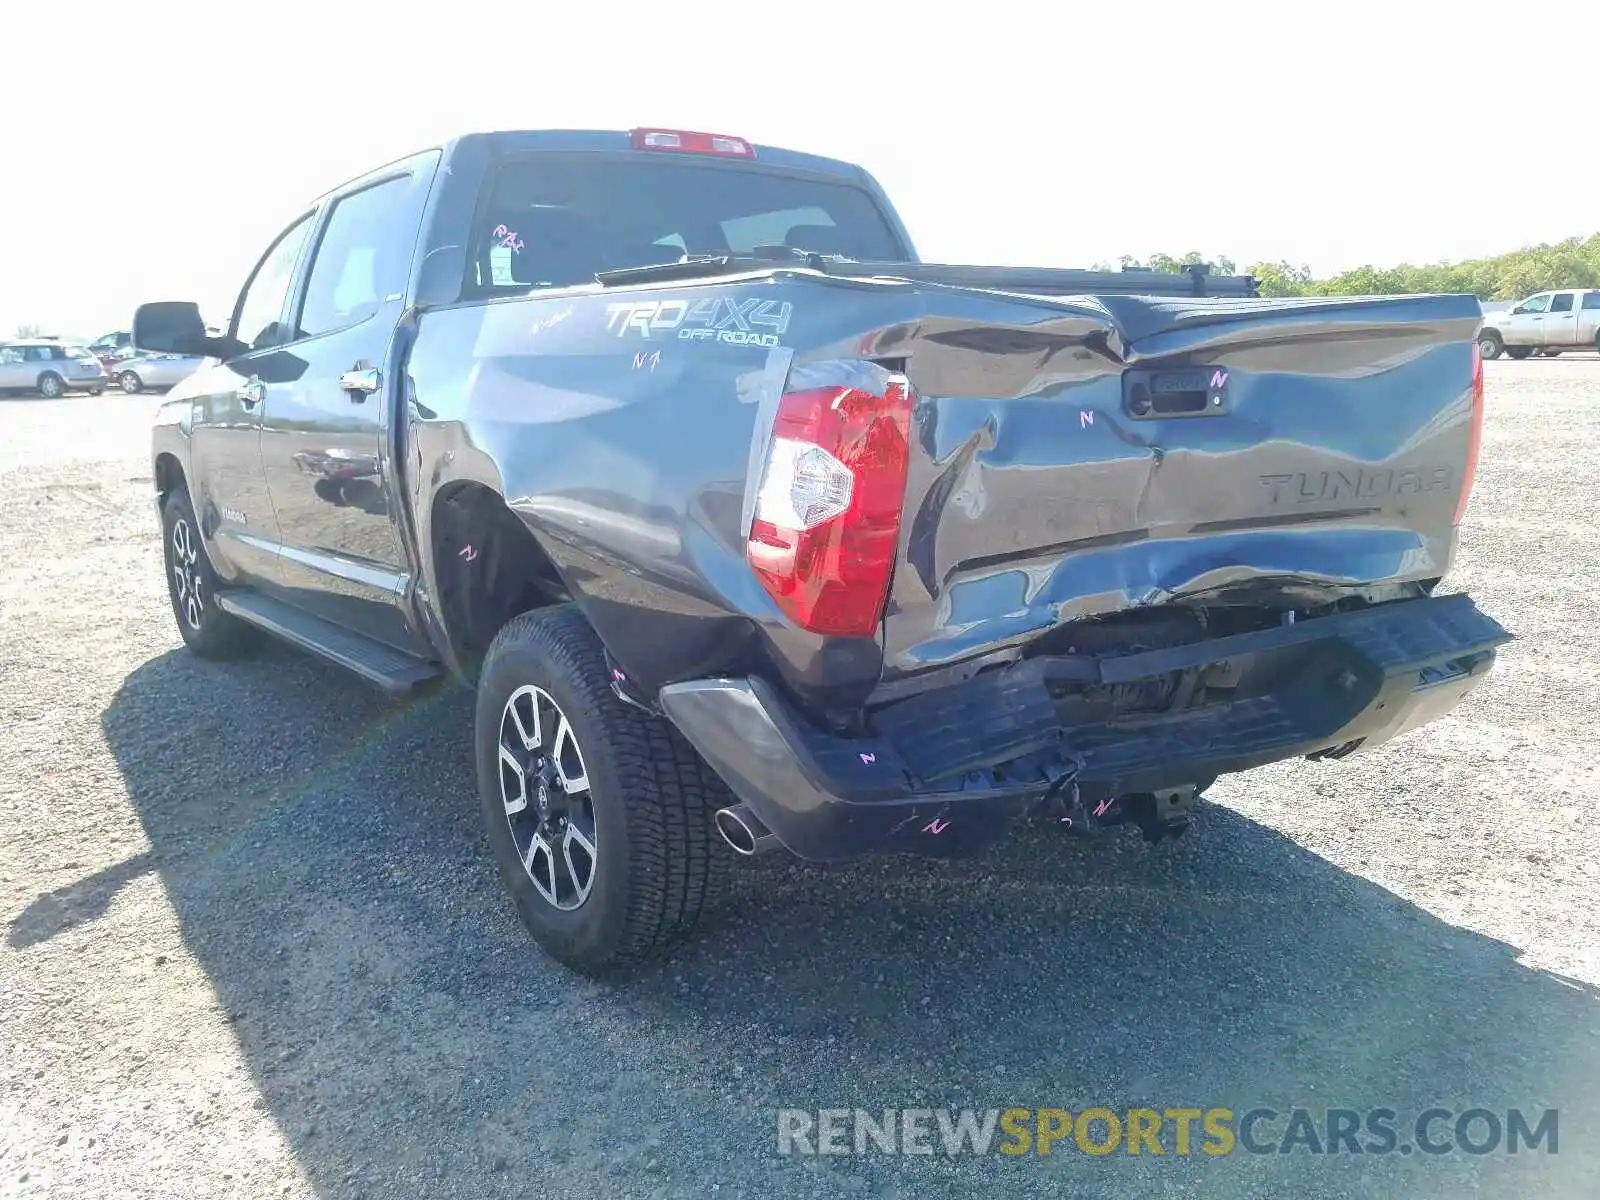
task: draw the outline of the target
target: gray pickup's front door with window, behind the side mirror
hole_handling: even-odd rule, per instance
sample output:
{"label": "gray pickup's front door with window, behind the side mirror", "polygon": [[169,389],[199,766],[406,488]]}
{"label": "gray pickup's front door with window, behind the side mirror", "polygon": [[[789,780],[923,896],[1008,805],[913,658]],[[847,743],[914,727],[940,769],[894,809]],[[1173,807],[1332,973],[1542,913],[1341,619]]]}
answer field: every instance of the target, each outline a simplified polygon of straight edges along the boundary
{"label": "gray pickup's front door with window, behind the side mirror", "polygon": [[261,469],[261,402],[266,378],[293,371],[280,355],[294,267],[310,237],[307,213],[272,243],[234,306],[229,334],[248,349],[195,371],[189,499],[218,573],[229,582],[277,579],[278,520]]}

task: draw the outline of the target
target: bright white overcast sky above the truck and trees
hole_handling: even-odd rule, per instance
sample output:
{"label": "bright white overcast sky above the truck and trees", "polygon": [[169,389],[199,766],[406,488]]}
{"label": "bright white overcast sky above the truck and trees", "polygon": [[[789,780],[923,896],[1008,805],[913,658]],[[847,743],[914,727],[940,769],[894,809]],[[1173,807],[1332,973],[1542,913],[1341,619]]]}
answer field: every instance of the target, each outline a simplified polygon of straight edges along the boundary
{"label": "bright white overcast sky above the truck and trees", "polygon": [[[0,336],[226,318],[306,200],[470,130],[862,163],[923,259],[1198,250],[1325,275],[1600,232],[1600,5],[13,5]],[[21,136],[16,136],[21,134]]]}

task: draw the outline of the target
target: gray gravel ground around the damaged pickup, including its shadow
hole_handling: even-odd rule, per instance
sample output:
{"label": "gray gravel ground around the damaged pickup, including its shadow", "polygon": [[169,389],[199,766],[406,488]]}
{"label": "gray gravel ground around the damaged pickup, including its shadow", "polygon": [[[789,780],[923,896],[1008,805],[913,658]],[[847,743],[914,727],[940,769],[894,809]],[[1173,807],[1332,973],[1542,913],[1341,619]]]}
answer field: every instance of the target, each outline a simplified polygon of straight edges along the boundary
{"label": "gray gravel ground around the damaged pickup, including its shadow", "polygon": [[[1451,584],[1522,637],[1450,718],[1154,850],[763,859],[616,986],[520,933],[466,696],[179,651],[155,400],[0,402],[0,1194],[1600,1194],[1600,362],[1488,389]],[[1091,1104],[1558,1107],[1560,1149],[774,1154],[779,1107]]]}

